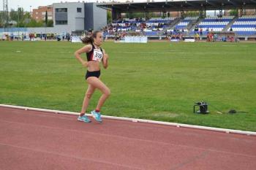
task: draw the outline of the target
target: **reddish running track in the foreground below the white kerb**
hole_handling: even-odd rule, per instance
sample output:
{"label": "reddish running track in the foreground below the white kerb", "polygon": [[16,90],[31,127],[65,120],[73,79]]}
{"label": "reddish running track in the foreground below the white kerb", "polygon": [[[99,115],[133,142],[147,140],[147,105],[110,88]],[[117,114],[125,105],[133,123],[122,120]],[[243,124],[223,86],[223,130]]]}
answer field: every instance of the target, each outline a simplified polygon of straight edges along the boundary
{"label": "reddish running track in the foreground below the white kerb", "polygon": [[252,170],[256,136],[0,107],[1,170]]}

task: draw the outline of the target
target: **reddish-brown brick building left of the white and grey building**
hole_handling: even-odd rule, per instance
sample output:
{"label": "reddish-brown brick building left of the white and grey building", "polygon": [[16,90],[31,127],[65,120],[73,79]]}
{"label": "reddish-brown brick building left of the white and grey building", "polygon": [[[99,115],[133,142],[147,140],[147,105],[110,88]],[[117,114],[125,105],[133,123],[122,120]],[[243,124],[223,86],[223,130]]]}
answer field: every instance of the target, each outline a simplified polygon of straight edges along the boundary
{"label": "reddish-brown brick building left of the white and grey building", "polygon": [[48,15],[48,20],[53,20],[53,6],[52,5],[48,5],[45,7],[38,7],[38,9],[33,9],[32,12],[32,18],[34,20],[45,20],[45,12],[47,11],[47,15]]}

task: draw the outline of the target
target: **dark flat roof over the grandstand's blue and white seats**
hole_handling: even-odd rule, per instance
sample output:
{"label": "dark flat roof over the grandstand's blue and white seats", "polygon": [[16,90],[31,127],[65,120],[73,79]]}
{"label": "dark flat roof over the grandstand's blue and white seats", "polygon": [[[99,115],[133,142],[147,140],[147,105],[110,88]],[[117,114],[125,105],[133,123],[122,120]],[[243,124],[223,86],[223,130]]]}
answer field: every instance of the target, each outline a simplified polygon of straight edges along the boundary
{"label": "dark flat roof over the grandstand's blue and white seats", "polygon": [[256,0],[166,0],[146,2],[110,2],[97,4],[104,9],[116,9],[120,12],[159,12],[180,10],[214,9],[255,9]]}

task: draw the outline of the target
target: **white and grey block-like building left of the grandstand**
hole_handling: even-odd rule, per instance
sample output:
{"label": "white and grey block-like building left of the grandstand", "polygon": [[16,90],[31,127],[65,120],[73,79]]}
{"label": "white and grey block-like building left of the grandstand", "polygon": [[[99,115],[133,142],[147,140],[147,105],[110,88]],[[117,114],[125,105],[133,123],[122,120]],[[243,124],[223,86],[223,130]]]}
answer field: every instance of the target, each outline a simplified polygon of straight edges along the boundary
{"label": "white and grey block-like building left of the grandstand", "polygon": [[107,25],[107,11],[96,7],[95,3],[53,3],[53,12],[53,27],[63,32],[99,30]]}

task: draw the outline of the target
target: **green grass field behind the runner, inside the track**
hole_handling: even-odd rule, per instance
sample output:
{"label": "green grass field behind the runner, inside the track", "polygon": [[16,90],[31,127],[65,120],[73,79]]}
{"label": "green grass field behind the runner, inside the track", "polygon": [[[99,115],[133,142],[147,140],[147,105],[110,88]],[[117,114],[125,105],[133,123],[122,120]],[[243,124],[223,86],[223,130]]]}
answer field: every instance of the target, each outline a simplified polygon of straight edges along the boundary
{"label": "green grass field behind the runner, inside the track", "polygon": [[[0,103],[80,112],[86,69],[69,42],[0,42]],[[256,43],[105,42],[103,115],[256,131]],[[89,111],[100,93],[94,93]],[[196,101],[210,114],[194,114]],[[227,114],[236,109],[236,114]],[[217,113],[218,111],[223,114]]]}

